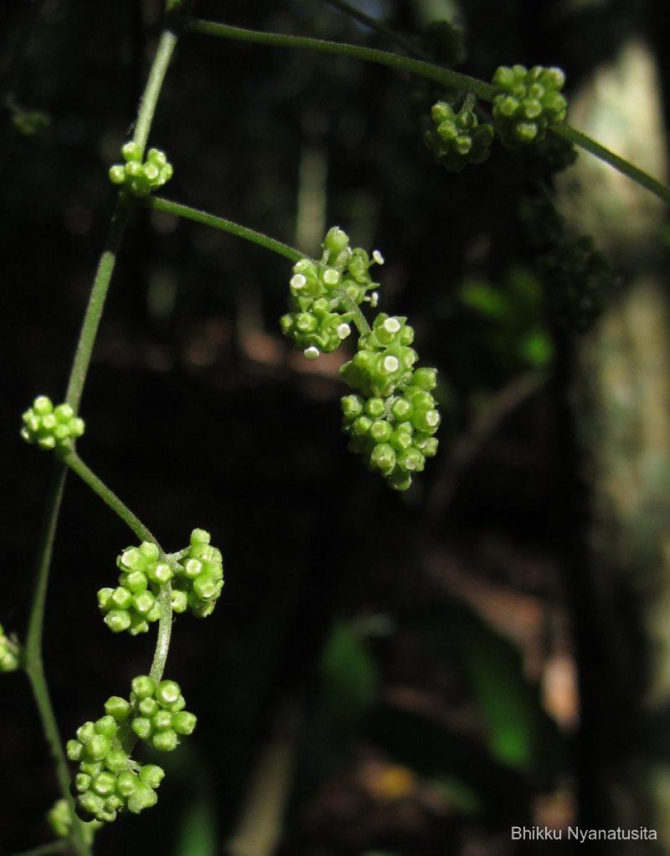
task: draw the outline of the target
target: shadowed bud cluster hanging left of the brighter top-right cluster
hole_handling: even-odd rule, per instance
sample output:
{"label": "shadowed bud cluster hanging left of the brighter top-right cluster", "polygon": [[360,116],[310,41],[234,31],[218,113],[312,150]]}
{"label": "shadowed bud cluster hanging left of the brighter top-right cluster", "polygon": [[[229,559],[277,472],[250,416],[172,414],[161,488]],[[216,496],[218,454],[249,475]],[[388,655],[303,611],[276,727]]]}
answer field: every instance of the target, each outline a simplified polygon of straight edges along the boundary
{"label": "shadowed bud cluster hanging left of the brighter top-right cluster", "polygon": [[475,96],[465,98],[463,107],[438,101],[431,110],[433,128],[424,135],[428,149],[437,163],[450,172],[460,172],[468,163],[483,163],[491,152],[494,128],[480,124],[475,113]]}

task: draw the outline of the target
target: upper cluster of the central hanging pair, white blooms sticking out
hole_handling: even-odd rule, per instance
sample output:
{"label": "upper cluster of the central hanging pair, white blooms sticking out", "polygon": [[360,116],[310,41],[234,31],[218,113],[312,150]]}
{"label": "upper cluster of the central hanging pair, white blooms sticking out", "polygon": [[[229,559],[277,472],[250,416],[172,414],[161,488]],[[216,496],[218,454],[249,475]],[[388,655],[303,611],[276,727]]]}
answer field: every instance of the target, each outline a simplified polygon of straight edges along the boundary
{"label": "upper cluster of the central hanging pair, white blooms sticking out", "polygon": [[321,351],[334,351],[350,336],[357,306],[364,301],[376,304],[377,284],[369,269],[384,263],[379,251],[370,259],[365,250],[352,249],[349,235],[337,226],[321,247],[319,261],[300,259],[294,265],[290,295],[295,311],[279,322],[284,336],[291,336],[308,360],[316,360]]}

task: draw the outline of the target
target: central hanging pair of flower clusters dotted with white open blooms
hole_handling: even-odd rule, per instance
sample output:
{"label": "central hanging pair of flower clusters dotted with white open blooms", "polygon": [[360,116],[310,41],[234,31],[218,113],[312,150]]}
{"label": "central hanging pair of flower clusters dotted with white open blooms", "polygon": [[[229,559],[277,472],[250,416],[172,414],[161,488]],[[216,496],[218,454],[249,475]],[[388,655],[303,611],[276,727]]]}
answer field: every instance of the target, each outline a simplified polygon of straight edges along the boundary
{"label": "central hanging pair of flower clusters dotted with white open blooms", "polygon": [[[356,395],[342,399],[343,431],[350,437],[349,449],[362,455],[371,470],[396,490],[407,490],[412,473],[420,473],[426,458],[437,451],[434,433],[440,413],[431,394],[437,372],[415,367],[418,355],[410,347],[414,330],[407,318],[380,312],[369,330],[360,315],[363,302],[377,305],[373,289],[378,285],[372,282],[369,267],[381,263],[380,253],[375,251],[371,261],[364,250],[350,247],[349,236],[338,227],[330,229],[322,246],[320,262],[301,259],[293,268],[291,297],[299,311],[284,315],[282,330],[308,359],[316,359],[320,350],[337,348],[350,335],[351,323],[357,322],[363,332],[356,353],[340,369],[344,381],[356,390]],[[326,330],[315,326],[321,318],[315,312],[320,300],[330,313]],[[345,335],[338,335],[338,324],[344,325]]]}

